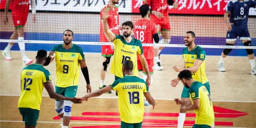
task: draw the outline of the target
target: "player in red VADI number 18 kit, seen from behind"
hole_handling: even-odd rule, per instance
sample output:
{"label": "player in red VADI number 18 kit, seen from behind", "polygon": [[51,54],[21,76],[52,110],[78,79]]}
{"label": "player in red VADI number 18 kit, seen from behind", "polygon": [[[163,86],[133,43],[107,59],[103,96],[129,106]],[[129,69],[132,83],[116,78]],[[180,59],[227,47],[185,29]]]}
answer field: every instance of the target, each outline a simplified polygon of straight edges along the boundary
{"label": "player in red VADI number 18 kit, seen from behind", "polygon": [[[145,44],[154,44],[153,38],[156,43],[159,42],[159,36],[157,34],[156,24],[150,20],[150,7],[148,5],[140,6],[140,14],[141,19],[137,20],[134,23],[134,37],[139,39],[142,43]],[[144,56],[146,58],[146,62],[148,65],[148,69],[150,70],[150,74],[153,74],[154,67],[154,47],[142,47]],[[138,58],[138,71],[143,72],[143,79],[146,81],[147,75],[145,70],[143,69],[140,59]],[[152,78],[151,78],[152,79]],[[147,101],[145,101],[144,105],[150,105]]]}

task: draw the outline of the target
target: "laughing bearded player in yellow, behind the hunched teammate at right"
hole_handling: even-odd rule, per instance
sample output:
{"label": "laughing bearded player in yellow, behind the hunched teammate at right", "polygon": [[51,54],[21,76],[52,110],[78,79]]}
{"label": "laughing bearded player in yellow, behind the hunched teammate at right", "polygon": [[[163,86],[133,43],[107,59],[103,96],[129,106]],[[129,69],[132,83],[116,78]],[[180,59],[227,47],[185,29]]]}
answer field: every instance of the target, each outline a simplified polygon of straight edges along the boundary
{"label": "laughing bearded player in yellow, behind the hunched teammate at right", "polygon": [[[180,68],[178,66],[174,66],[174,70],[176,72],[180,72],[184,69],[189,70],[192,73],[193,79],[201,82],[207,88],[210,94],[210,84],[205,74],[205,51],[195,44],[196,34],[193,31],[186,32],[184,36],[184,43],[186,48],[183,49],[182,57],[184,59],[185,68]],[[179,78],[173,79],[171,85],[176,87],[179,83]],[[183,91],[181,94],[181,101],[185,102],[184,104],[187,106],[190,104],[189,99],[189,89],[183,87]],[[182,108],[183,105],[180,107]],[[183,123],[185,121],[186,111],[180,110],[178,117],[178,127],[183,127]]]}

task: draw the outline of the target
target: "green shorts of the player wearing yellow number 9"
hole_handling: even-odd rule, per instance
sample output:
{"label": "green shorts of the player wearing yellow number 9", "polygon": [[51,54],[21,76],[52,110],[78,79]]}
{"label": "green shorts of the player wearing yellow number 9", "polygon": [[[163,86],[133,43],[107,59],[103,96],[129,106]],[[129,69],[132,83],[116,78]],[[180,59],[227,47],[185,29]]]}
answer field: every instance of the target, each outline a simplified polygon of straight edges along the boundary
{"label": "green shorts of the player wearing yellow number 9", "polygon": [[[77,88],[78,88],[78,86],[70,86],[70,87],[66,87],[66,88],[61,88],[61,87],[55,86],[55,92],[62,96],[75,97]],[[55,100],[59,101],[58,99],[55,99]]]}

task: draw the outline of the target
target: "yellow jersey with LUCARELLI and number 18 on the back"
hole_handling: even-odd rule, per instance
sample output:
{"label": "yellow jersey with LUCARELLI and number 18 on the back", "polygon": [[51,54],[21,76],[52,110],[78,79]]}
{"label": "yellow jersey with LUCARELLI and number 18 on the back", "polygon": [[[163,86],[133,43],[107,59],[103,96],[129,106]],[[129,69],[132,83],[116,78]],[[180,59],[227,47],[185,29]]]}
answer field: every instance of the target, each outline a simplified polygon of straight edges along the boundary
{"label": "yellow jersey with LUCARELLI and number 18 on the back", "polygon": [[137,76],[124,76],[115,80],[111,85],[118,93],[118,106],[121,121],[139,123],[143,121],[144,94],[148,87],[143,79]]}

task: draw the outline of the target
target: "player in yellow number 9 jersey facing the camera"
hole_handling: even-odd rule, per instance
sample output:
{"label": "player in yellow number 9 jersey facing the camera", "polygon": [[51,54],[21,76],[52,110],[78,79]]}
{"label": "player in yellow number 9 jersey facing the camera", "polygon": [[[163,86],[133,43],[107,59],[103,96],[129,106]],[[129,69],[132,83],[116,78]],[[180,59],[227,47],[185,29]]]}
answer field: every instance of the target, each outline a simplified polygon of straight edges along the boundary
{"label": "player in yellow number 9 jersey facing the camera", "polygon": [[[79,68],[81,68],[82,74],[86,79],[87,92],[91,92],[88,68],[82,48],[72,43],[74,36],[71,30],[65,30],[62,37],[63,44],[53,47],[45,64],[45,66],[49,65],[55,58],[57,78],[55,86],[56,93],[63,96],[75,97],[78,87]],[[55,56],[52,57],[54,53]],[[56,99],[55,110],[61,121],[63,120],[62,128],[69,126],[71,108],[72,102]]]}

